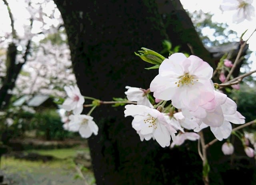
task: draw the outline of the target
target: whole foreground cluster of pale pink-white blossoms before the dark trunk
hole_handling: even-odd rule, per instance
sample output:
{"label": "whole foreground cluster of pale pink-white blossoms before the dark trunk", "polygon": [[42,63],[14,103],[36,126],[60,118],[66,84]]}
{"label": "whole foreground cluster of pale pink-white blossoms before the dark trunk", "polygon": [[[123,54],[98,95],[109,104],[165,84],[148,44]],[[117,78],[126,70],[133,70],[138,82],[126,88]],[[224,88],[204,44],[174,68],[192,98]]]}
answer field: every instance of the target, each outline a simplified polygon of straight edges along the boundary
{"label": "whole foreground cluster of pale pink-white blossoms before the dark trunk", "polygon": [[[172,148],[185,140],[198,140],[197,132],[210,127],[221,141],[230,136],[231,123],[244,124],[244,116],[236,110],[236,103],[214,89],[212,74],[212,67],[199,57],[174,53],[160,64],[159,74],[150,84],[150,91],[158,101],[162,100],[160,103],[153,106],[147,91],[126,87],[128,100],[136,101],[137,105],[126,105],[124,114],[134,117],[132,127],[140,139],[152,138],[160,146]],[[168,100],[171,104],[164,107]]]}

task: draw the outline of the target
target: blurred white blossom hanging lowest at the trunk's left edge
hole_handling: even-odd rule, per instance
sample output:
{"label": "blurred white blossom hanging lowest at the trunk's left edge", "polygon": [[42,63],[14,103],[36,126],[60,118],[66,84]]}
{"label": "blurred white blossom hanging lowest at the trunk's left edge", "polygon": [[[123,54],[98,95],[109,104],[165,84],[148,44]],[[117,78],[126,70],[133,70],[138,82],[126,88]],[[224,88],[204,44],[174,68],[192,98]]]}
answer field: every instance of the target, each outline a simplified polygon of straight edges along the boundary
{"label": "blurred white blossom hanging lowest at the trunk's left edge", "polygon": [[93,121],[92,116],[84,115],[84,114],[71,114],[69,116],[70,122],[68,124],[69,131],[71,132],[79,132],[82,138],[89,138],[92,133],[94,135],[98,134],[98,126]]}

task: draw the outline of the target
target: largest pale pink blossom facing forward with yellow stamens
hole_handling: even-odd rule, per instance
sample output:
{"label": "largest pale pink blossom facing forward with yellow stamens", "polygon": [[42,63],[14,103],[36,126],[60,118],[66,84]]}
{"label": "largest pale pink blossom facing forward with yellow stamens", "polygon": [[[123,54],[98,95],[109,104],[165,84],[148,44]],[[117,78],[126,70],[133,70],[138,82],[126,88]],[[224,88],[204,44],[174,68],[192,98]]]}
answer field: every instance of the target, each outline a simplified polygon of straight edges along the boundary
{"label": "largest pale pink blossom facing forward with yellow stamens", "polygon": [[214,98],[212,73],[212,67],[199,57],[174,53],[161,63],[150,91],[155,98],[172,100],[176,108],[196,110]]}

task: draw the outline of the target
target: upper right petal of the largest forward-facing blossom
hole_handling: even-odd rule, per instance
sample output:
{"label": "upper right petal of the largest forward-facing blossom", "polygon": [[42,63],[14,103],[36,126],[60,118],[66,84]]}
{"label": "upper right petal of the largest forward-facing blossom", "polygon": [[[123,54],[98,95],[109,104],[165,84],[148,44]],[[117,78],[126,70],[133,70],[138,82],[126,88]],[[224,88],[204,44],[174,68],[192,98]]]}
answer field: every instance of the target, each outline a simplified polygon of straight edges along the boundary
{"label": "upper right petal of the largest forward-facing blossom", "polygon": [[212,78],[212,67],[199,57],[190,55],[188,59],[191,61],[189,68],[190,74],[195,75],[198,79],[210,80]]}

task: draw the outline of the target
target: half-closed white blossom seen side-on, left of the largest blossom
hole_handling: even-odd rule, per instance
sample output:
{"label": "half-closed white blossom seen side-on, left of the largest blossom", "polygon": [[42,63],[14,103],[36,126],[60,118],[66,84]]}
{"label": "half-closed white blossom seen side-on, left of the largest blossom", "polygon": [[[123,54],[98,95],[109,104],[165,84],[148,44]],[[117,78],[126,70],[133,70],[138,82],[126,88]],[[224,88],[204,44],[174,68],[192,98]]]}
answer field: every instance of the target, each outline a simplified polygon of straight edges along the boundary
{"label": "half-closed white blossom seen side-on, left of the largest blossom", "polygon": [[130,87],[126,86],[126,89],[128,89],[126,92],[124,92],[127,96],[127,99],[129,101],[136,101],[137,105],[145,105],[150,108],[153,108],[154,106],[150,103],[148,100],[148,96],[144,93],[144,91],[138,87]]}

